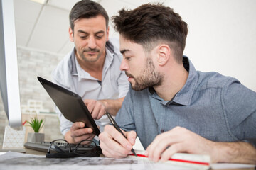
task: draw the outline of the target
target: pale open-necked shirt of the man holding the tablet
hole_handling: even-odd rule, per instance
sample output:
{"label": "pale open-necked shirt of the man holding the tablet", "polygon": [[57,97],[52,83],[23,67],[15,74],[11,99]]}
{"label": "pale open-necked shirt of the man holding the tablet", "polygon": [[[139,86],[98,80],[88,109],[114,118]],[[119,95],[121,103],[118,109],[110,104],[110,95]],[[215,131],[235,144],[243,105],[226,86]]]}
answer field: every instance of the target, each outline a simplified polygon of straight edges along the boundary
{"label": "pale open-necked shirt of the man holding the tablet", "polygon": [[[98,81],[95,77],[91,77],[78,64],[73,49],[58,66],[53,70],[53,82],[63,86],[65,89],[73,91],[82,97],[82,99],[117,99],[126,96],[129,89],[129,81],[124,72],[119,67],[122,62],[122,54],[119,52],[119,40],[111,39],[106,44],[106,58],[102,72],[102,81]],[[65,135],[73,125],[69,120],[65,119],[55,107],[56,113],[60,118],[60,130]],[[103,131],[104,125],[110,123],[106,115],[100,120],[95,120]]]}

